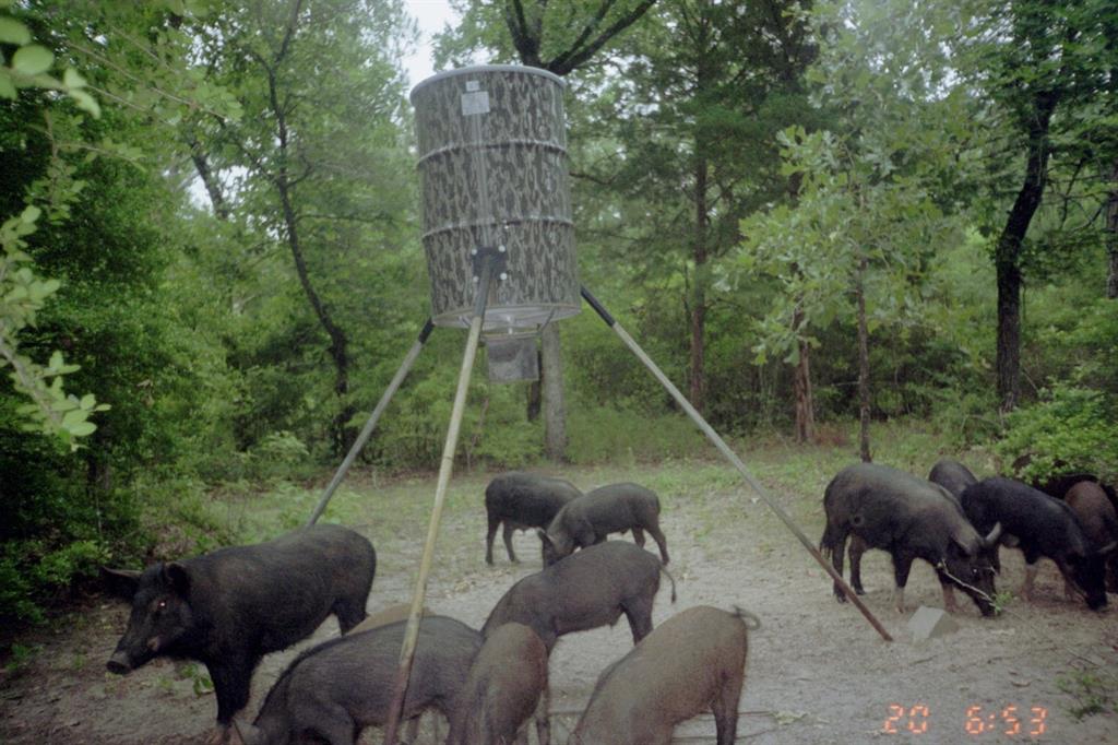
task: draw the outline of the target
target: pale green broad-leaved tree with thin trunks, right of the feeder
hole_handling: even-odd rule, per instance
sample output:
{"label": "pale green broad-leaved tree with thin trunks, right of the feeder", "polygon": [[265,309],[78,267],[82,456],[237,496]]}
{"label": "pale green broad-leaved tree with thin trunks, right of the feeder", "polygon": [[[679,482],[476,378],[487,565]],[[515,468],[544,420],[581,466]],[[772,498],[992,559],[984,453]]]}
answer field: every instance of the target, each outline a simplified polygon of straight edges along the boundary
{"label": "pale green broad-leaved tree with thin trunks, right of the feeder", "polygon": [[808,76],[843,135],[781,134],[795,204],[743,224],[742,258],[784,290],[760,324],[757,359],[778,353],[797,367],[798,440],[811,436],[807,358],[817,330],[854,317],[869,460],[869,337],[919,303],[932,247],[958,235],[946,217],[956,207],[950,152],[960,135],[950,122],[965,98],[944,95],[948,68],[928,44],[936,12],[836,2],[821,3],[814,19],[821,55]]}

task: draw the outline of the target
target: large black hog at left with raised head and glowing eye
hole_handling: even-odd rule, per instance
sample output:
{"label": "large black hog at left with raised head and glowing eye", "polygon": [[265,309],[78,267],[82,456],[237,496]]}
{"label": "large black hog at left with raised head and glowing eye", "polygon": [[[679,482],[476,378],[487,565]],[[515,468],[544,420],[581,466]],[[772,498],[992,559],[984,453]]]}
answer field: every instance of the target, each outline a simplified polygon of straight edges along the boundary
{"label": "large black hog at left with raised head and glowing eye", "polygon": [[157,564],[142,574],[104,569],[110,588],[132,601],[107,667],[126,673],[163,656],[202,662],[217,694],[211,739],[222,738],[248,701],[260,658],[309,636],[331,613],[343,633],[360,623],[376,570],[369,540],[334,525]]}

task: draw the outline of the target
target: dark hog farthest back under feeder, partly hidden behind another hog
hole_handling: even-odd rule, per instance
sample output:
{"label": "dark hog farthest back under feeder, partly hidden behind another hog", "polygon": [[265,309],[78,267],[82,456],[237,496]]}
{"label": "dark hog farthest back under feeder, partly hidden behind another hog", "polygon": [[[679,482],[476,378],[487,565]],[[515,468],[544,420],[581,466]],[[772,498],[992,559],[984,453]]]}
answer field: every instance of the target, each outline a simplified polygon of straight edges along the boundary
{"label": "dark hog farthest back under feeder, partly hidden behind another hog", "polygon": [[509,560],[515,562],[512,531],[548,527],[563,504],[581,496],[582,492],[569,481],[534,473],[514,471],[490,481],[485,488],[485,513],[489,517],[485,563],[493,564],[493,537],[502,522]]}

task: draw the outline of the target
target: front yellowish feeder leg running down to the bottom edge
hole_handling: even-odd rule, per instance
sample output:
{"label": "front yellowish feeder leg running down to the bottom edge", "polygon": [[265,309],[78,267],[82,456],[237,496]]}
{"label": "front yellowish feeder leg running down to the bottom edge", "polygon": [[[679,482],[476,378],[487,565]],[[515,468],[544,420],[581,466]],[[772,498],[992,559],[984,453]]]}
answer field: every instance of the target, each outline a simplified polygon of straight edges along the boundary
{"label": "front yellowish feeder leg running down to the bottom edge", "polygon": [[416,579],[415,593],[411,596],[411,612],[408,625],[404,631],[404,647],[400,649],[400,667],[396,671],[396,685],[392,689],[392,702],[388,709],[388,723],[385,725],[385,745],[396,745],[396,730],[400,724],[404,709],[404,696],[408,689],[408,677],[411,673],[411,660],[415,657],[416,641],[419,638],[419,616],[423,611],[424,596],[427,594],[427,577],[430,574],[432,559],[435,556],[435,540],[438,538],[438,524],[443,518],[443,504],[446,502],[446,488],[454,470],[454,451],[458,446],[458,430],[462,426],[462,415],[466,408],[466,393],[470,390],[470,374],[477,356],[477,345],[482,336],[482,322],[485,320],[485,304],[489,300],[490,281],[493,276],[493,260],[484,257],[481,261],[481,276],[477,280],[474,296],[474,317],[470,321],[470,336],[466,339],[466,351],[462,356],[462,369],[458,372],[458,388],[454,395],[454,407],[451,409],[451,426],[446,431],[446,445],[443,447],[443,462],[438,468],[438,483],[435,487],[435,506],[430,511],[430,522],[427,526],[427,543],[424,544],[423,558],[419,562],[419,576]]}

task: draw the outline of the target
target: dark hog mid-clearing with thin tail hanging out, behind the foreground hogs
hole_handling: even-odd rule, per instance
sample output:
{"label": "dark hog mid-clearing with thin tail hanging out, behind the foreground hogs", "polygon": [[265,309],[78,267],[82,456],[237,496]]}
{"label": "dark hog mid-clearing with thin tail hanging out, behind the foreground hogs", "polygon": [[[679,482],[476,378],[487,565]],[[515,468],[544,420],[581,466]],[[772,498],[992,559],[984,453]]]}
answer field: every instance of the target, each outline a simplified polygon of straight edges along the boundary
{"label": "dark hog mid-clearing with thin tail hanging out, behind the foreground hogs", "polygon": [[505,623],[522,623],[550,653],[559,636],[613,625],[624,613],[638,642],[652,631],[662,570],[660,560],[639,546],[619,540],[591,546],[510,587],[482,626],[482,636],[489,639]]}

